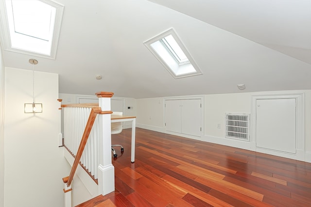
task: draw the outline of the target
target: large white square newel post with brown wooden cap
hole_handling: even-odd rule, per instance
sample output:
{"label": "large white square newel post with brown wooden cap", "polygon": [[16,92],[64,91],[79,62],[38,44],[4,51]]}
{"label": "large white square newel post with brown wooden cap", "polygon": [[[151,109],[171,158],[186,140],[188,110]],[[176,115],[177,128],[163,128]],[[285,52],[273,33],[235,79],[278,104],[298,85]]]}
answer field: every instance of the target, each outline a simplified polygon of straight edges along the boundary
{"label": "large white square newel post with brown wooden cap", "polygon": [[[111,111],[112,92],[96,93],[102,111]],[[98,192],[106,195],[115,190],[115,169],[111,162],[111,114],[98,117],[103,130],[99,135]]]}

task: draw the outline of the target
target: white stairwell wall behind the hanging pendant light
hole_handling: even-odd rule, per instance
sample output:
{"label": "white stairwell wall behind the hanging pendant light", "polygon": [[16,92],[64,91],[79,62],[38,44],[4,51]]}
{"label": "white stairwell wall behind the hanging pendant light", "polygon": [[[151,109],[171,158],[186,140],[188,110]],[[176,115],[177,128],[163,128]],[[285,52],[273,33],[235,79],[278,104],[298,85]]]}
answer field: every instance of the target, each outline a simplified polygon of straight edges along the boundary
{"label": "white stairwell wall behind the hanging pendant light", "polygon": [[32,89],[31,70],[5,68],[4,206],[62,207],[62,178],[70,168],[58,147],[58,74],[35,71],[35,102],[43,104],[42,113],[24,113]]}

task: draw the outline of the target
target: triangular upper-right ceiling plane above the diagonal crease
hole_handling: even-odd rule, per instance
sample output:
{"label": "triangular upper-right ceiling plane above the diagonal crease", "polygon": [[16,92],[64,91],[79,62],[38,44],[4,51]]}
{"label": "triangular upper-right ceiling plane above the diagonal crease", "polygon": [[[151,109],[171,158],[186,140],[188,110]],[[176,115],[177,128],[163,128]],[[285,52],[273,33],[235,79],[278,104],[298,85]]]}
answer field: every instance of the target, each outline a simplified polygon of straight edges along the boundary
{"label": "triangular upper-right ceiling plane above the diagonal crease", "polygon": [[150,0],[311,64],[311,0]]}

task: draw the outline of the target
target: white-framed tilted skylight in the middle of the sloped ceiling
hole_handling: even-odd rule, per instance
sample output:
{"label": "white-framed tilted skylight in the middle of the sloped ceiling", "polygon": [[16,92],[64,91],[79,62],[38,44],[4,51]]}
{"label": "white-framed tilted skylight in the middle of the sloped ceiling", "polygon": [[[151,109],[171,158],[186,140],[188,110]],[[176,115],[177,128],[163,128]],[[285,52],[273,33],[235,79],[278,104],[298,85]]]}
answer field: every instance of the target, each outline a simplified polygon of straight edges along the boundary
{"label": "white-framed tilted skylight in the middle of the sloped ceiling", "polygon": [[202,74],[173,29],[144,44],[175,79]]}

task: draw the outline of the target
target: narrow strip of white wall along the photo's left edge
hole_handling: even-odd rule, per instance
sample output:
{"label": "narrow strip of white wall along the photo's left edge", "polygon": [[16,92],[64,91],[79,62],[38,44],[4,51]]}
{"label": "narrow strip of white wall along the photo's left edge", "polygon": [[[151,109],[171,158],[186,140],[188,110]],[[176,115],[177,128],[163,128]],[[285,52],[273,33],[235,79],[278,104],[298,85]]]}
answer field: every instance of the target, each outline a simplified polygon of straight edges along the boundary
{"label": "narrow strip of white wall along the photo's left edge", "polygon": [[0,46],[0,207],[4,207],[4,63]]}

